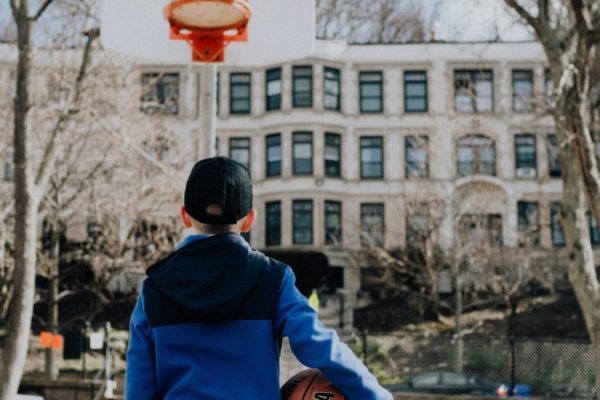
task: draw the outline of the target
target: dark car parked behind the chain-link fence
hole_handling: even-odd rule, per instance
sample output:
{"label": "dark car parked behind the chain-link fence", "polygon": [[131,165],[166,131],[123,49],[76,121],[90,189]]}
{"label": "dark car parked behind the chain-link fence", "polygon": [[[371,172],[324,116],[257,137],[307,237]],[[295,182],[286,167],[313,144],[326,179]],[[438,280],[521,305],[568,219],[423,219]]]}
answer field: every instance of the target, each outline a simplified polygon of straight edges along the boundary
{"label": "dark car parked behind the chain-link fence", "polygon": [[497,396],[500,387],[477,375],[460,372],[423,372],[411,377],[402,385],[390,386],[395,392],[421,392],[439,394],[471,394]]}

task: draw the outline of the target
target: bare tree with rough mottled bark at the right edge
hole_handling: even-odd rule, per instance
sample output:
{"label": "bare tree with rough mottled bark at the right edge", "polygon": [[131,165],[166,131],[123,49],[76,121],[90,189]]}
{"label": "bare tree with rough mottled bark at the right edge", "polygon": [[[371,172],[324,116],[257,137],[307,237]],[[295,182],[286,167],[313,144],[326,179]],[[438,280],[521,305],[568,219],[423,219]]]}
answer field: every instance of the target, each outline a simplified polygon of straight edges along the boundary
{"label": "bare tree with rough mottled bark at the right edge", "polygon": [[569,280],[596,353],[600,393],[600,283],[587,229],[587,213],[600,221],[598,168],[598,46],[600,3],[595,0],[523,2],[505,0],[534,30],[548,58],[554,84],[553,115],[563,170],[561,220],[568,252]]}

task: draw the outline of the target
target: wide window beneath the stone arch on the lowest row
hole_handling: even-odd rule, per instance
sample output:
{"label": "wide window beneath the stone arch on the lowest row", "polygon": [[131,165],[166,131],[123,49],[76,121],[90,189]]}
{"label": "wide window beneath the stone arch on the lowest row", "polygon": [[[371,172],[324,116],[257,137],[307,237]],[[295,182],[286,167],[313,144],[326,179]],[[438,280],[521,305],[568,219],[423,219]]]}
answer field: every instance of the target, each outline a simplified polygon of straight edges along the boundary
{"label": "wide window beneath the stone arch on the lowest row", "polygon": [[460,218],[460,238],[475,246],[502,246],[502,215],[467,214]]}

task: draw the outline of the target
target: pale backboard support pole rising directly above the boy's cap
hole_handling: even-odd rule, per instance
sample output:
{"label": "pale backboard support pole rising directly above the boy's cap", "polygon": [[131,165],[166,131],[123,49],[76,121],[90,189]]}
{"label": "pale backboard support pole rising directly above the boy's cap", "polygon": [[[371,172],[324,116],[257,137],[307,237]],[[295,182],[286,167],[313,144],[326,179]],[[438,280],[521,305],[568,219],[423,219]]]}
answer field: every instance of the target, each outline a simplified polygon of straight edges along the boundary
{"label": "pale backboard support pole rising directly above the boy's cap", "polygon": [[201,64],[198,67],[198,73],[200,77],[198,159],[204,159],[213,157],[217,153],[217,67],[214,64]]}

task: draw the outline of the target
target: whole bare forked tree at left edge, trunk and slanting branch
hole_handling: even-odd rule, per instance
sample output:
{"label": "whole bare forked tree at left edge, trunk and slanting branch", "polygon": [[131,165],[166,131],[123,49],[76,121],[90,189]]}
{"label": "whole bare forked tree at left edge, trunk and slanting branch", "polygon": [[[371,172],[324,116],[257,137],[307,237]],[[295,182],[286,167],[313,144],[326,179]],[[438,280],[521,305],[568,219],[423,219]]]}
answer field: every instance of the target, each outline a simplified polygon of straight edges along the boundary
{"label": "whole bare forked tree at left edge, trunk and slanting branch", "polygon": [[64,131],[65,125],[79,111],[92,44],[99,34],[98,30],[87,32],[86,45],[81,52],[81,63],[67,104],[51,127],[41,161],[34,170],[29,128],[32,106],[30,97],[33,54],[32,27],[52,3],[53,0],[45,0],[35,12],[31,13],[29,0],[10,1],[17,28],[18,61],[13,110],[15,266],[13,294],[2,352],[2,370],[0,371],[0,399],[6,400],[12,399],[16,395],[27,354],[35,292],[39,206],[46,193],[58,154],[57,138]]}

